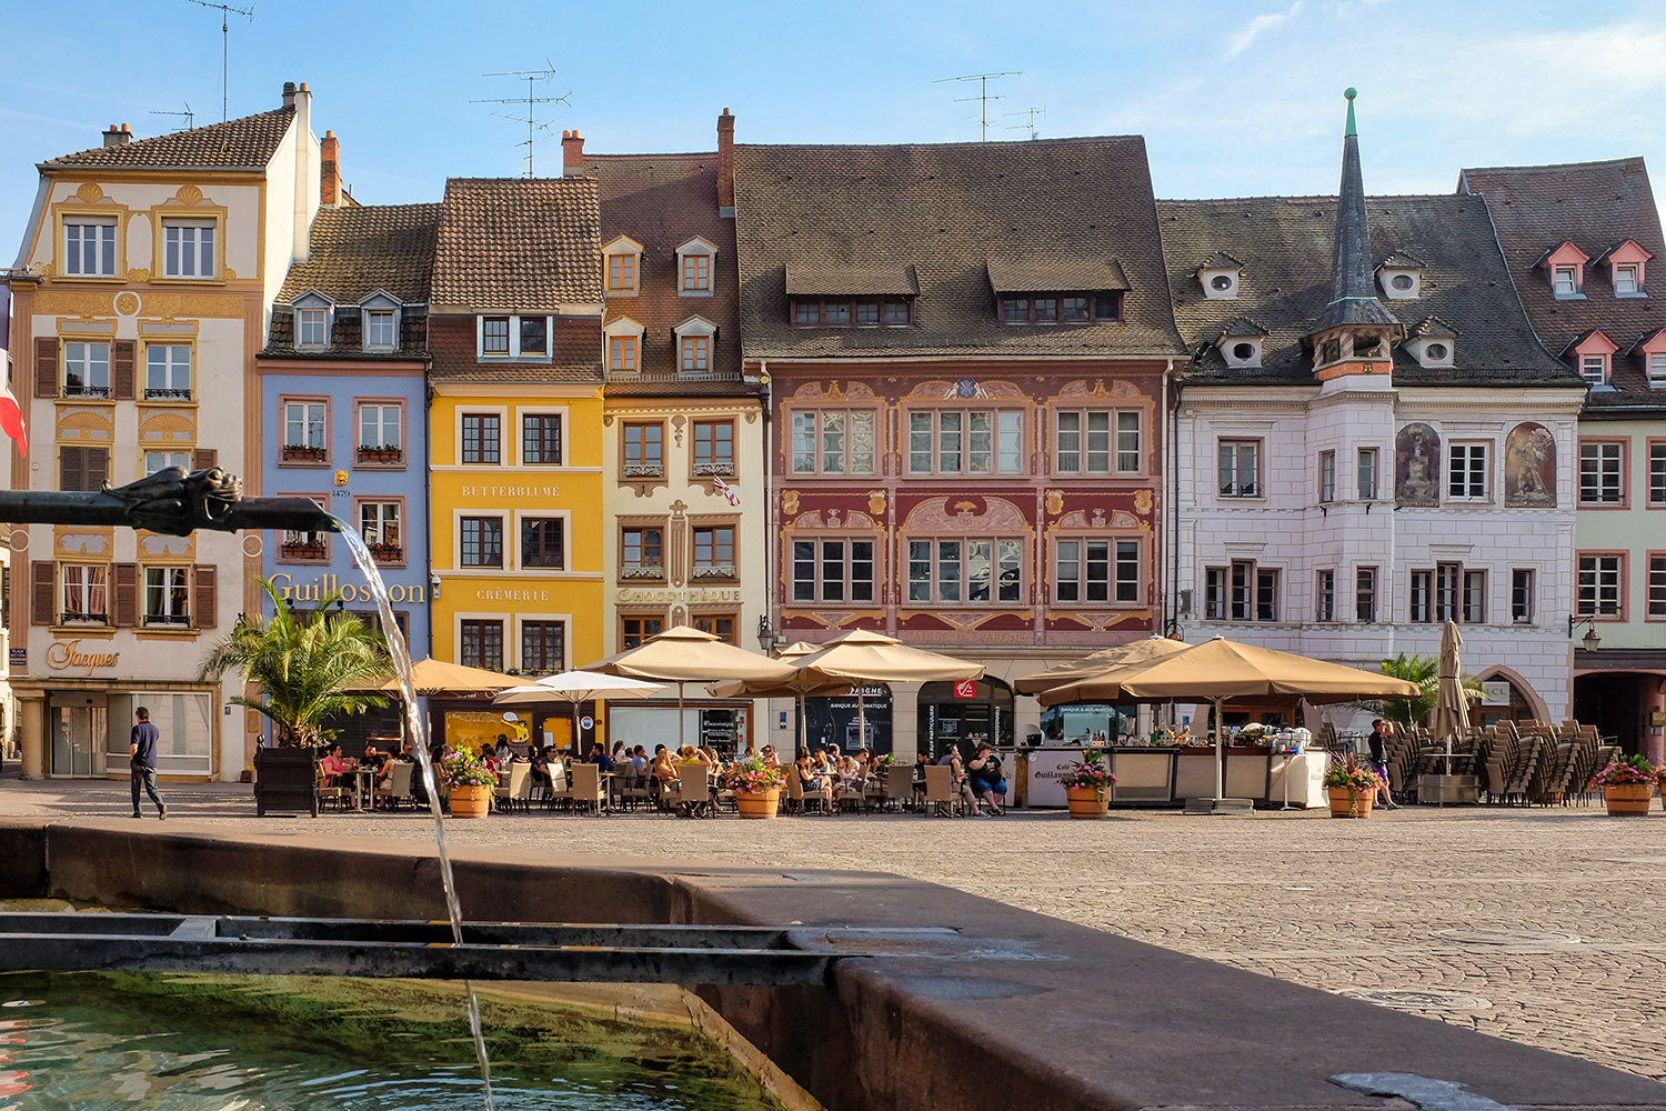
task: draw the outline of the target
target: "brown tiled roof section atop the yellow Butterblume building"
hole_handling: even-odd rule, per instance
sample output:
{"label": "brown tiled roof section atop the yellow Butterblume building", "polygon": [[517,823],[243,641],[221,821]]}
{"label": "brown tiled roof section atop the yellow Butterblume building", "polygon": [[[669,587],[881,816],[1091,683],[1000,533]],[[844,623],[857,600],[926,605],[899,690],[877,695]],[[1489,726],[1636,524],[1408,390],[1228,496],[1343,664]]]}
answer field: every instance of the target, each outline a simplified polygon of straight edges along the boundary
{"label": "brown tiled roof section atop the yellow Butterblume building", "polygon": [[450,178],[431,301],[436,308],[511,313],[600,303],[596,183]]}

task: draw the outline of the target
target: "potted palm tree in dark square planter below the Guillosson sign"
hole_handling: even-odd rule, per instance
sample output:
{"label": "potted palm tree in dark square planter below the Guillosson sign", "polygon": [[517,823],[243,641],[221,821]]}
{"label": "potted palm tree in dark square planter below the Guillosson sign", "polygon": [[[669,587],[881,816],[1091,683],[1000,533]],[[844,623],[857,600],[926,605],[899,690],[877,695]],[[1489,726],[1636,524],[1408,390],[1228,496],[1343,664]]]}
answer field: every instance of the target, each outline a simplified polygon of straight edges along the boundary
{"label": "potted palm tree in dark square planter below the Guillosson sign", "polygon": [[255,753],[255,811],[318,813],[317,746],[323,725],[338,715],[387,706],[375,690],[393,676],[382,633],[357,616],[330,608],[337,595],[297,611],[272,580],[262,580],[275,613],[245,613],[217,643],[198,670],[198,681],[218,683],[227,673],[258,686],[250,698],[230,701],[272,721],[273,746]]}

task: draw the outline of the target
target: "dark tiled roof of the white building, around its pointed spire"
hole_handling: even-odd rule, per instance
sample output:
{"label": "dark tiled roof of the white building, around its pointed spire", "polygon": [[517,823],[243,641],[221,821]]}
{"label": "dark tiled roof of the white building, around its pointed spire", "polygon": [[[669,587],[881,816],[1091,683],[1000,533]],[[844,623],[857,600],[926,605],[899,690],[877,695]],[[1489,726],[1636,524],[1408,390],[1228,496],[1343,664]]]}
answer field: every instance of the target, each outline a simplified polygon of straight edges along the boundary
{"label": "dark tiled roof of the white building, around its pointed spire", "polygon": [[[1336,235],[1334,197],[1251,197],[1158,202],[1175,320],[1193,351],[1190,383],[1313,385],[1303,336],[1331,301],[1329,262]],[[1459,331],[1453,368],[1424,370],[1394,351],[1398,385],[1578,386],[1573,371],[1533,336],[1476,197],[1366,198],[1371,257],[1411,253],[1429,260],[1421,296],[1376,301],[1411,326],[1439,316]],[[1210,300],[1198,267],[1226,250],[1245,260],[1235,300]],[[1263,365],[1228,370],[1215,348],[1228,321],[1253,318],[1268,328]]]}

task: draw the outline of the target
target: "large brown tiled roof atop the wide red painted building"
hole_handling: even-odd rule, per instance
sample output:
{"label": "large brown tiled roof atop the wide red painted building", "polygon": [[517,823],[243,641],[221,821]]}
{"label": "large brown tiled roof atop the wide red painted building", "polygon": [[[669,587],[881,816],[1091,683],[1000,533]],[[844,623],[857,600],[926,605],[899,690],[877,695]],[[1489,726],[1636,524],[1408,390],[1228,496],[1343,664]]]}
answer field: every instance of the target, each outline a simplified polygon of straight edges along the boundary
{"label": "large brown tiled roof atop the wide red painted building", "polygon": [[[1168,356],[1180,351],[1138,137],[736,147],[748,358]],[[1125,320],[1003,325],[990,263],[1121,263]],[[915,267],[908,328],[796,328],[786,268]],[[1066,290],[1061,290],[1066,291]]]}

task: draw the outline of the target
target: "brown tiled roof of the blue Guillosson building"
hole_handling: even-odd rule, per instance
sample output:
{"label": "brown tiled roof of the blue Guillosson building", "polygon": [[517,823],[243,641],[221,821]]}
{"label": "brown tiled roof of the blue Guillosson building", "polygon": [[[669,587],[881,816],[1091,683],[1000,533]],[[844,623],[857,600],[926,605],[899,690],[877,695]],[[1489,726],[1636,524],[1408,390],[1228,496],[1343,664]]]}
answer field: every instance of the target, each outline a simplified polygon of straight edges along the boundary
{"label": "brown tiled roof of the blue Guillosson building", "polygon": [[317,290],[337,305],[357,305],[387,290],[407,305],[428,301],[440,205],[320,208],[310,255],[290,267],[278,301]]}

